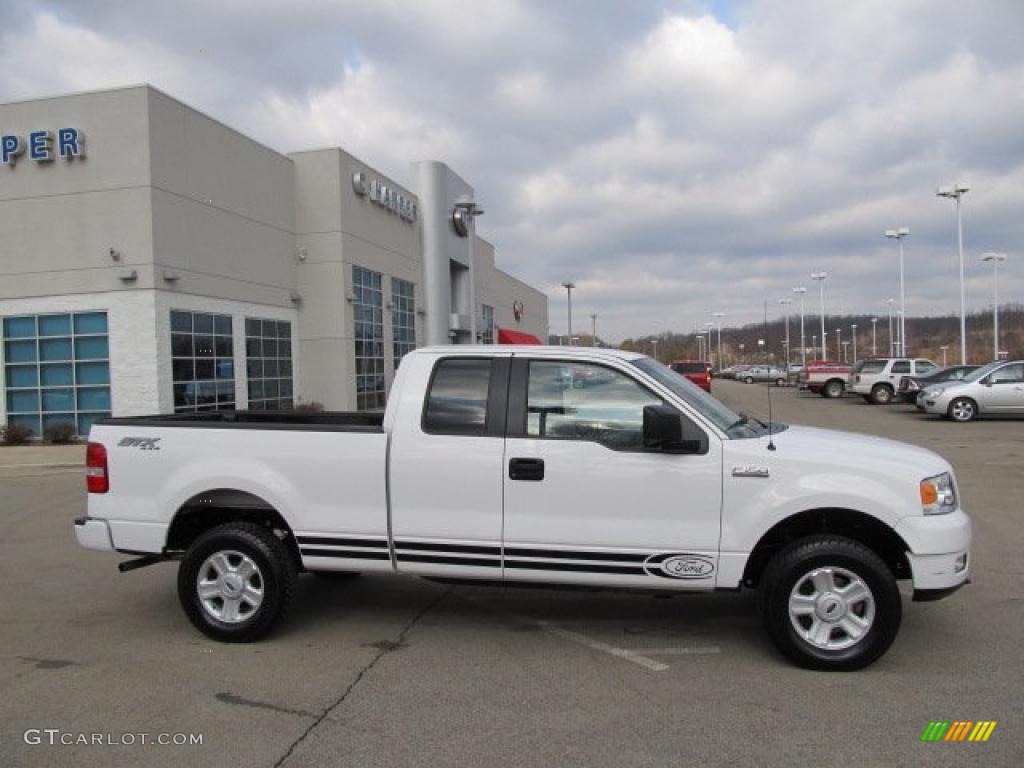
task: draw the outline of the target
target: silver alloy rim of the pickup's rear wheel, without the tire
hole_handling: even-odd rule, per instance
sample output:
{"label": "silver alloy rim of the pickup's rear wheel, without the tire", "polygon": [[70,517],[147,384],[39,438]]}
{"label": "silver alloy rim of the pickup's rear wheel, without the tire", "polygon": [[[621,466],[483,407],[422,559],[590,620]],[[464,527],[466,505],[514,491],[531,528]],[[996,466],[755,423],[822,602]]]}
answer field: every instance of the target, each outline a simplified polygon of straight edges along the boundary
{"label": "silver alloy rim of the pickup's rear wheel, without the tire", "polygon": [[263,575],[248,555],[236,550],[214,552],[200,566],[196,590],[203,609],[218,622],[251,618],[263,602]]}

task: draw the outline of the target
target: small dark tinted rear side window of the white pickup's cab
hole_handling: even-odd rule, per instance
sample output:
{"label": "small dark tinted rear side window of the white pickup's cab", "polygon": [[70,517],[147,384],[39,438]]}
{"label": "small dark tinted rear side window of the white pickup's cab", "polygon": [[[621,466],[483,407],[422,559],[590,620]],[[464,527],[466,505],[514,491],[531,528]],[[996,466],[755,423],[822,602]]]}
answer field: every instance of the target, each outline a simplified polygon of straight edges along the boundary
{"label": "small dark tinted rear side window of the white pickup's cab", "polygon": [[490,368],[489,359],[451,358],[438,362],[423,413],[424,431],[485,434]]}

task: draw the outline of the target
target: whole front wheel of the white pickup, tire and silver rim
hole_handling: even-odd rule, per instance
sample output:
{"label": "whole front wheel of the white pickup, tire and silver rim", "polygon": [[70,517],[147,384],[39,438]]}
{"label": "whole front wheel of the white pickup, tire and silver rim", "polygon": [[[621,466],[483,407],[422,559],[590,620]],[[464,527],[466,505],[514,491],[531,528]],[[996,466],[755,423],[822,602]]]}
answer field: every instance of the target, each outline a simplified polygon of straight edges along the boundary
{"label": "whole front wheel of the white pickup, tire and silver rim", "polygon": [[902,618],[892,571],[867,547],[845,537],[794,542],[768,563],[761,590],[769,637],[808,669],[867,667],[892,645]]}

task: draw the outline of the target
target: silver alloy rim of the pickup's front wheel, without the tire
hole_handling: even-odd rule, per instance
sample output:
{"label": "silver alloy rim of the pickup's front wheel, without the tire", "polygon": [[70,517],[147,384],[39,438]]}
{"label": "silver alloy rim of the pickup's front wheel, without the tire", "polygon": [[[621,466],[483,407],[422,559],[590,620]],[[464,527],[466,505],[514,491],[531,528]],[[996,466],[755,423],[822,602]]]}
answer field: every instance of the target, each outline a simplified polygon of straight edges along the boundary
{"label": "silver alloy rim of the pickup's front wheel, without the tire", "polygon": [[846,568],[815,568],[790,593],[790,622],[797,634],[821,650],[844,650],[864,639],[874,623],[874,596]]}

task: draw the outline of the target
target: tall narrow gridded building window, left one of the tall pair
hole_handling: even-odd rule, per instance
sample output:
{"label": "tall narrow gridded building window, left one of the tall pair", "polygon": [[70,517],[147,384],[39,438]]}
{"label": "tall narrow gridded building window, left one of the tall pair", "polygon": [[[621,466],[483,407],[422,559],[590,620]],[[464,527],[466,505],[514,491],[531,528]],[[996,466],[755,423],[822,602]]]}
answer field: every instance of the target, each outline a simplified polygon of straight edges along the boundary
{"label": "tall narrow gridded building window, left one of the tall pair", "polygon": [[384,294],[381,274],[352,267],[352,309],[355,313],[355,407],[384,408]]}

